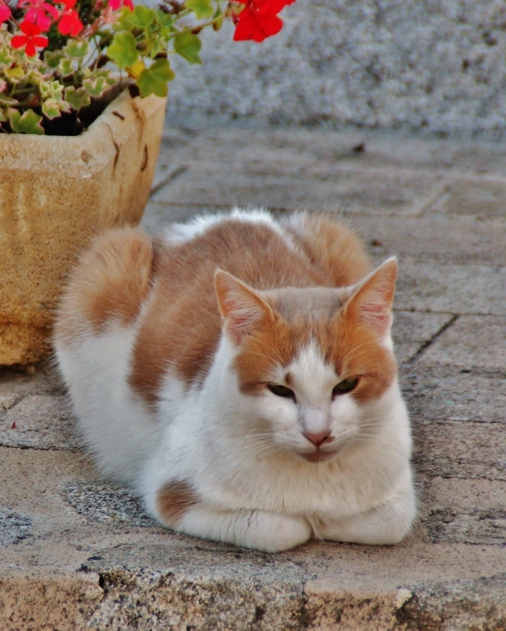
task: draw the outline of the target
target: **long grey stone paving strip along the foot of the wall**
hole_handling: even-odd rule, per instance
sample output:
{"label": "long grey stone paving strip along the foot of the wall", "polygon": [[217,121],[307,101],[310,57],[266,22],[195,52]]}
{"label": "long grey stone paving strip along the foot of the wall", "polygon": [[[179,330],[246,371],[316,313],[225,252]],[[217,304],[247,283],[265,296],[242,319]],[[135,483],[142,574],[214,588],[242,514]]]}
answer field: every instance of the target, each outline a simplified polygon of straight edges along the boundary
{"label": "long grey stone paving strip along the foot of the wall", "polygon": [[[195,142],[196,141],[196,142]],[[234,150],[229,149],[233,146]],[[505,178],[503,142],[420,137],[374,129],[284,128],[259,121],[231,123],[213,117],[168,116],[160,149],[162,159],[235,164],[245,171],[304,174],[308,166],[437,173],[448,180]]]}

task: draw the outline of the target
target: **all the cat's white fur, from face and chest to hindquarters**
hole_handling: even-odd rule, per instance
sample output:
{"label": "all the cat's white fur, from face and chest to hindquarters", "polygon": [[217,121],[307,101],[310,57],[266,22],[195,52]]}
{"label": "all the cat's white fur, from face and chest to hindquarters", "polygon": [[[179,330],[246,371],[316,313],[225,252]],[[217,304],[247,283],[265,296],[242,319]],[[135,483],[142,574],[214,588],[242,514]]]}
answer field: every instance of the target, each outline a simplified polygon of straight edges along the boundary
{"label": "all the cat's white fur, from face and chest to hindquarters", "polygon": [[[248,218],[272,223],[263,213]],[[191,239],[217,221],[175,227],[169,241]],[[245,395],[232,368],[238,349],[223,335],[200,386],[187,388],[168,369],[154,413],[127,383],[138,325],[110,322],[100,335],[57,345],[57,355],[98,466],[136,489],[151,515],[163,521],[157,494],[183,481],[200,501],[177,529],[198,537],[277,552],[312,535],[363,544],[405,536],[416,509],[408,413],[396,381],[369,404],[351,394],[332,399],[342,376],[309,343],[272,373],[282,383],[290,372],[297,402],[267,388]],[[322,445],[329,460],[306,460],[315,447],[304,431],[331,431],[333,441]]]}

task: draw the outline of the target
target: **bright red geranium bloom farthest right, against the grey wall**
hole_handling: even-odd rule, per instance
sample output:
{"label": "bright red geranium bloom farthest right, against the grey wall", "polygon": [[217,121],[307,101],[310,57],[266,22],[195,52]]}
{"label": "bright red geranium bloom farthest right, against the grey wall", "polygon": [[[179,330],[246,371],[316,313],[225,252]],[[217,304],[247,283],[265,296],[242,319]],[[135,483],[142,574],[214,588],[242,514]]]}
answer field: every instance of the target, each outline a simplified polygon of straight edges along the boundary
{"label": "bright red geranium bloom farthest right, against the grey wall", "polygon": [[237,0],[245,8],[236,16],[234,40],[263,42],[265,37],[281,31],[283,20],[277,15],[295,0]]}

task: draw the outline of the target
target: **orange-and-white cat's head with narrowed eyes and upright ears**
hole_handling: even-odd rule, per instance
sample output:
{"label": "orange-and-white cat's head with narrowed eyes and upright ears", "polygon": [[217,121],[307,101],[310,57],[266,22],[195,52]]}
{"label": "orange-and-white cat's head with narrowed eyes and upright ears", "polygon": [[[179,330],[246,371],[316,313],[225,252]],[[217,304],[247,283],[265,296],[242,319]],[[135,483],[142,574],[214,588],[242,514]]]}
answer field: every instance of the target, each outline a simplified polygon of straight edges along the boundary
{"label": "orange-and-white cat's head with narrowed eyes and upright ears", "polygon": [[[390,327],[397,263],[345,288],[256,291],[218,270],[232,370],[254,397],[265,440],[310,462],[372,440],[396,379]],[[384,413],[384,412],[383,412]]]}

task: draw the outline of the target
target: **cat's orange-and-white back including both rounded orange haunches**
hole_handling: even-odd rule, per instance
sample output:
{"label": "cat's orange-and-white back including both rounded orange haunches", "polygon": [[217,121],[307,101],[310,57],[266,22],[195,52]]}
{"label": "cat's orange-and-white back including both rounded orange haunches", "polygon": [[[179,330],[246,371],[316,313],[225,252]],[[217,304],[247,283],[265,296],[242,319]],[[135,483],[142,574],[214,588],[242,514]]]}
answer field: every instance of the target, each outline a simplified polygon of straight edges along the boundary
{"label": "cat's orange-and-white back including both rounded orange haunches", "polygon": [[211,365],[221,330],[218,268],[263,290],[346,286],[370,265],[351,231],[318,214],[275,221],[265,211],[236,210],[172,225],[155,239],[113,230],[96,239],[71,276],[57,349],[124,329],[129,386],[155,406],[167,366],[191,386]]}

